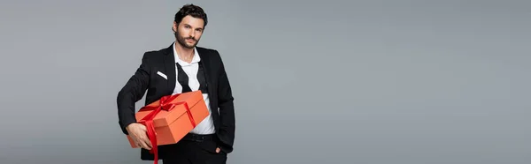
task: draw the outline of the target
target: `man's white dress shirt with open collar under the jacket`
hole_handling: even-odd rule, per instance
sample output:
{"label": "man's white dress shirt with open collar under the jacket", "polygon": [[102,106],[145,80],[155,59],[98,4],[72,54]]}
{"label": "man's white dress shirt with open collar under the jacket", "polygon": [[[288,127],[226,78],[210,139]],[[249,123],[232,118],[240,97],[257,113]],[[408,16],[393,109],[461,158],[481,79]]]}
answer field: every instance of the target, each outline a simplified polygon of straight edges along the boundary
{"label": "man's white dress shirt with open collar under the jacket", "polygon": [[[190,89],[192,91],[197,91],[199,90],[199,80],[197,79],[197,71],[199,70],[199,61],[201,61],[201,58],[197,54],[197,49],[194,48],[194,57],[192,58],[192,62],[187,63],[182,61],[177,55],[177,51],[175,50],[175,44],[176,42],[173,42],[173,55],[175,56],[175,63],[179,63],[182,67],[182,71],[186,72],[186,74],[188,75]],[[179,71],[177,70],[177,65],[175,65],[175,79],[178,79],[178,74]],[[182,86],[179,81],[175,82],[175,89],[173,89],[173,94],[177,93],[182,93]],[[190,133],[213,134],[215,133],[215,129],[212,121],[212,109],[209,105],[208,93],[203,93],[203,98],[210,115],[204,118],[201,123],[198,123],[196,128],[191,130]]]}

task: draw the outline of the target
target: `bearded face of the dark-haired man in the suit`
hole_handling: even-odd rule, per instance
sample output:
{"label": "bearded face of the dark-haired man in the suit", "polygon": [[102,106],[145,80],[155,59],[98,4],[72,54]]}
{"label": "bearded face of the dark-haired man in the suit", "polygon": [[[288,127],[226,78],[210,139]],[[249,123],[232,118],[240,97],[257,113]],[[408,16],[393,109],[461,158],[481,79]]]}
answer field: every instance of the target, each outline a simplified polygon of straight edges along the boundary
{"label": "bearded face of the dark-haired man in the suit", "polygon": [[173,30],[176,31],[177,42],[184,48],[194,48],[201,39],[204,30],[203,19],[186,16],[177,25],[173,22]]}

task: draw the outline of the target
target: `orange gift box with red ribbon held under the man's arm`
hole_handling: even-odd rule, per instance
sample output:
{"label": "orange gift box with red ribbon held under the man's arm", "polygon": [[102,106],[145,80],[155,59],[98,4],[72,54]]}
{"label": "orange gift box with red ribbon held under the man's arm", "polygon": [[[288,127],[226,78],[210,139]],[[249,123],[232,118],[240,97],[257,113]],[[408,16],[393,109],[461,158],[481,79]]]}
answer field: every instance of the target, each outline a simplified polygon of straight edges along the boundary
{"label": "orange gift box with red ribbon held under the man's arm", "polygon": [[[150,138],[150,153],[158,163],[157,145],[175,144],[209,115],[200,90],[167,95],[140,108],[135,114],[138,123],[146,126]],[[131,147],[138,147],[127,135]]]}

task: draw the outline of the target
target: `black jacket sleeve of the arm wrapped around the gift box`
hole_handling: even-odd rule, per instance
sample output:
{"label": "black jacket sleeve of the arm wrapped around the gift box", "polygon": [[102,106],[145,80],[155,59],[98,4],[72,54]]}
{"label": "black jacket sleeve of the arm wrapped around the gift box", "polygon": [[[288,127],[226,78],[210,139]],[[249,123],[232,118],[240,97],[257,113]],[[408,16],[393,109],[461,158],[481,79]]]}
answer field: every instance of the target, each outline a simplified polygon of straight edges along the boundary
{"label": "black jacket sleeve of the arm wrapped around the gift box", "polygon": [[135,74],[127,80],[117,97],[119,126],[122,132],[128,135],[127,125],[136,123],[135,102],[142,99],[150,82],[150,61],[148,53],[142,56],[142,63]]}

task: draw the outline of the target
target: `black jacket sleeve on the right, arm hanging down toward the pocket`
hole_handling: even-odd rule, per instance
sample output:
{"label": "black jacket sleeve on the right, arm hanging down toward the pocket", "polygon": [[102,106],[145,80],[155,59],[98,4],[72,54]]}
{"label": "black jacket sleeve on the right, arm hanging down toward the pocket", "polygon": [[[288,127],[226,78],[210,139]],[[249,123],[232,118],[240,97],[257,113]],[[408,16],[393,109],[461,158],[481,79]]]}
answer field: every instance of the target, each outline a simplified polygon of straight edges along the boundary
{"label": "black jacket sleeve on the right, arm hanging down toward the pocket", "polygon": [[218,84],[218,102],[219,115],[221,124],[219,127],[219,139],[221,141],[220,148],[226,152],[233,151],[235,141],[235,106],[232,89],[225,71],[224,63],[219,56],[219,52],[215,51],[219,57],[219,84]]}

